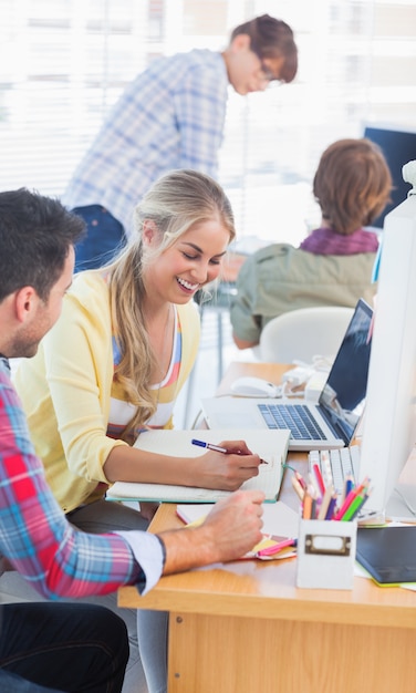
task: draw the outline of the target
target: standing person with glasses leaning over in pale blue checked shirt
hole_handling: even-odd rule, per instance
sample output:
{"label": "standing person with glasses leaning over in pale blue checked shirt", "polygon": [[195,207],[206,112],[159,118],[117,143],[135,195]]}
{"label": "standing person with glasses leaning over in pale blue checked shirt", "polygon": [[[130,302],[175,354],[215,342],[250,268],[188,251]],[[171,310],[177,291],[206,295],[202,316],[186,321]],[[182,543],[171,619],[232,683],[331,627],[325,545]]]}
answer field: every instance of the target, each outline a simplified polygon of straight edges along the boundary
{"label": "standing person with glasses leaning over in pale blue checked shirt", "polygon": [[135,205],[168,170],[217,177],[229,85],[246,95],[292,82],[297,71],[293,32],[269,14],[237,27],[222,52],[153,60],[108,113],[62,198],[87,225],[76,269],[100,267],[126,242]]}

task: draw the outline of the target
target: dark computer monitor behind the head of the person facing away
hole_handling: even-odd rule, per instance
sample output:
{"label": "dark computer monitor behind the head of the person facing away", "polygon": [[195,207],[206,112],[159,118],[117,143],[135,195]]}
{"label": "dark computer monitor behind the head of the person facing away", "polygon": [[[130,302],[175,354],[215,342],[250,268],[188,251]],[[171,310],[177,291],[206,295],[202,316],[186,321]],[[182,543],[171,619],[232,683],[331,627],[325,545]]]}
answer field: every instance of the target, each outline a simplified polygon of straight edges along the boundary
{"label": "dark computer monitor behind the head of the person facing away", "polygon": [[393,127],[367,125],[364,128],[364,137],[367,137],[381,147],[393,178],[392,203],[373,221],[375,228],[382,229],[385,216],[406,199],[410,189],[409,184],[403,179],[402,167],[407,162],[416,159],[416,130],[405,132]]}

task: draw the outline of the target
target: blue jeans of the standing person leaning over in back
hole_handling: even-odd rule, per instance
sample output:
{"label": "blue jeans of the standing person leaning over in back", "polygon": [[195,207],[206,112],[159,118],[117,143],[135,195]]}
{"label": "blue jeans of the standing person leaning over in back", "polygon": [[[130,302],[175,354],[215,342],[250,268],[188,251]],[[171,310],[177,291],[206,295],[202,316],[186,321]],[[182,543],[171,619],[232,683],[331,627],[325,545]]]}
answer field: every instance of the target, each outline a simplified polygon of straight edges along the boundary
{"label": "blue jeans of the standing person leaning over in back", "polygon": [[75,271],[110,262],[126,244],[123,225],[101,205],[75,207],[72,211],[86,224],[86,236],[75,247]]}

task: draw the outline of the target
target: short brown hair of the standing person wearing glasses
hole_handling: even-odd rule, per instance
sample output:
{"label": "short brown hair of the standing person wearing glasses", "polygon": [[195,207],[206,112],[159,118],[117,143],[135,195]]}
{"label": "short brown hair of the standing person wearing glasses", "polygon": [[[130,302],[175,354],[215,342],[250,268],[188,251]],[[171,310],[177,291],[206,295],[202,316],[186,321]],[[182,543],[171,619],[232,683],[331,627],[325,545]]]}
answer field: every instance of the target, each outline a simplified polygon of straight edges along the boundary
{"label": "short brown hair of the standing person wearing glasses", "polygon": [[250,37],[250,48],[261,60],[283,56],[284,63],[279,79],[282,82],[294,80],[298,72],[298,48],[289,24],[270,14],[262,14],[236,27],[231,41],[241,33]]}

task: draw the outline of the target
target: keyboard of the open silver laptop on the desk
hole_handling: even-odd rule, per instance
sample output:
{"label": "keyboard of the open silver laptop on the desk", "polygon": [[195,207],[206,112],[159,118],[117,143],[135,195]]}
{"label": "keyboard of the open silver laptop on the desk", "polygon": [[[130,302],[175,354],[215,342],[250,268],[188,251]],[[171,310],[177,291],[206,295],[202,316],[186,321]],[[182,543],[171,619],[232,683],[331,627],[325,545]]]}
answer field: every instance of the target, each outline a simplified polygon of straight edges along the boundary
{"label": "keyboard of the open silver laptop on the desk", "polygon": [[289,428],[295,441],[325,441],[326,436],[304,404],[258,404],[268,428]]}

